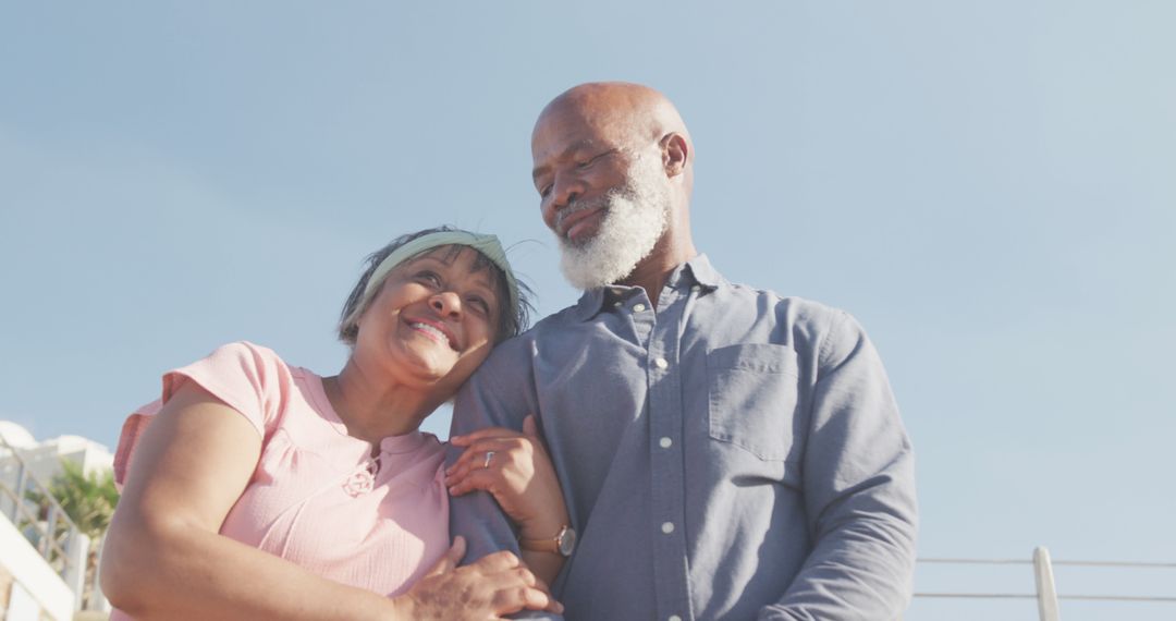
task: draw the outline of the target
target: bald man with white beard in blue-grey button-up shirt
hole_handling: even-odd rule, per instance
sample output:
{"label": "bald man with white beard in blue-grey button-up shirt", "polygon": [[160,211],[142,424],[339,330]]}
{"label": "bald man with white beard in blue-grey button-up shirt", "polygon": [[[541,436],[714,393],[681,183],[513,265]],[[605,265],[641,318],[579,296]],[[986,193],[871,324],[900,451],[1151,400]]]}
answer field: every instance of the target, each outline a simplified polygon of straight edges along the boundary
{"label": "bald man with white beard in blue-grey button-up shirt", "polygon": [[[572,88],[540,114],[532,153],[584,293],[492,354],[453,430],[537,415],[570,523],[521,545],[570,552],[554,585],[567,617],[898,617],[913,454],[861,327],[728,282],[695,249],[694,148],[660,93]],[[519,549],[485,493],[450,516],[472,557]]]}

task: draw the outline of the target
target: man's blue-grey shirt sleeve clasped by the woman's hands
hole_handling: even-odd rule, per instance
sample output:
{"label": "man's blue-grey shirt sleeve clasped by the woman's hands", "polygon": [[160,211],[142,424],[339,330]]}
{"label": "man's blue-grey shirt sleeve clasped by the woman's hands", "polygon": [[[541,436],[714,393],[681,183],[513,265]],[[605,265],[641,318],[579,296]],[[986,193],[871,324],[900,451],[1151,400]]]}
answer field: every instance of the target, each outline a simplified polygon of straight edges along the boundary
{"label": "man's blue-grey shirt sleeve clasped by the woman's hands", "polygon": [[[522,429],[522,420],[534,413],[542,420],[528,369],[529,347],[520,340],[508,341],[490,355],[457,393],[453,407],[450,435],[461,435],[486,427]],[[461,456],[462,448],[447,445],[446,466]],[[488,492],[472,492],[449,500],[449,534],[466,537],[463,563],[497,550],[519,554],[519,539],[510,519]],[[521,613],[512,619],[563,617],[550,613]]]}

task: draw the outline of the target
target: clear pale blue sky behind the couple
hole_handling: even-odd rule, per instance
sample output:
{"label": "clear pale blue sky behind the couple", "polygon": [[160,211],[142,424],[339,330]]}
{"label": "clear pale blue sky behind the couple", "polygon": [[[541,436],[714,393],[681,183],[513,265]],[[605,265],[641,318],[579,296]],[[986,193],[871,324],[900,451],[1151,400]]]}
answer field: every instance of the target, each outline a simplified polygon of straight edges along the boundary
{"label": "clear pale blue sky behind the couple", "polygon": [[[877,343],[922,555],[1176,561],[1176,5],[419,5],[0,6],[0,419],[113,446],[161,372],[238,339],[333,373],[361,258],[441,222],[516,243],[541,314],[570,303],[530,126],[568,86],[632,80],[691,129],[714,263]],[[1060,590],[1176,595],[1170,572],[1115,576]]]}

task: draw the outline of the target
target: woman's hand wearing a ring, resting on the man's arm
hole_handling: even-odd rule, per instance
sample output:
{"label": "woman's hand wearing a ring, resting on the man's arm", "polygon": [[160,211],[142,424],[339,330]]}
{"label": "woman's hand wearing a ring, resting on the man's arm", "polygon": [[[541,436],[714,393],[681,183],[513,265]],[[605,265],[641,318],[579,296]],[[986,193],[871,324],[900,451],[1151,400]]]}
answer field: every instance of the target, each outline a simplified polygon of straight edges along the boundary
{"label": "woman's hand wearing a ring, resting on the man's arm", "polygon": [[449,442],[466,447],[446,470],[450,494],[489,492],[519,526],[523,539],[555,537],[569,523],[560,481],[539,438],[534,415],[523,419],[522,433],[490,427],[455,435]]}

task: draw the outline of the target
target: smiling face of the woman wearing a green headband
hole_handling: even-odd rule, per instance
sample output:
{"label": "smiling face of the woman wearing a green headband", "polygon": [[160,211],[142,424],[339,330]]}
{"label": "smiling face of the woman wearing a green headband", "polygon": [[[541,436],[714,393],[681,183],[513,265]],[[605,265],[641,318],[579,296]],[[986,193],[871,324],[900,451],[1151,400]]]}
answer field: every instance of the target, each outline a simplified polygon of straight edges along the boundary
{"label": "smiling face of the woman wearing a green headband", "polygon": [[388,273],[359,320],[354,356],[448,399],[486,360],[502,312],[477,252],[442,246]]}

